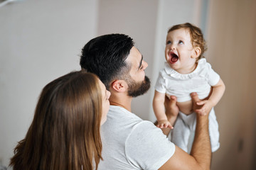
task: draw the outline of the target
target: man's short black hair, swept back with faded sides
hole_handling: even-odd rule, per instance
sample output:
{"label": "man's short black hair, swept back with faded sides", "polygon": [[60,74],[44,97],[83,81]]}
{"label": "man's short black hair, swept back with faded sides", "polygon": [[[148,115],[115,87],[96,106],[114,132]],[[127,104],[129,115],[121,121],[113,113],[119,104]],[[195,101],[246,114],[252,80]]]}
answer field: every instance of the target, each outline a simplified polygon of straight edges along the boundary
{"label": "man's short black hair, swept back with faded sides", "polygon": [[109,89],[111,81],[127,74],[127,59],[134,46],[132,38],[124,34],[109,34],[93,38],[82,48],[80,66],[92,72]]}

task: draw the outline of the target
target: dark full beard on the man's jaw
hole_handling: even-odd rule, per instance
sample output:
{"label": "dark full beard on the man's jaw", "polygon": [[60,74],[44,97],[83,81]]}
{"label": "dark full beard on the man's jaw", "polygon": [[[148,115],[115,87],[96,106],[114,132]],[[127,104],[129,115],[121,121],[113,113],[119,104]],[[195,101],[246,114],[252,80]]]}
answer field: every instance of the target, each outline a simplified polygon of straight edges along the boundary
{"label": "dark full beard on the man's jaw", "polygon": [[142,94],[145,94],[146,91],[150,88],[150,80],[149,77],[145,76],[144,81],[135,82],[132,77],[129,77],[128,83],[128,96],[137,97]]}

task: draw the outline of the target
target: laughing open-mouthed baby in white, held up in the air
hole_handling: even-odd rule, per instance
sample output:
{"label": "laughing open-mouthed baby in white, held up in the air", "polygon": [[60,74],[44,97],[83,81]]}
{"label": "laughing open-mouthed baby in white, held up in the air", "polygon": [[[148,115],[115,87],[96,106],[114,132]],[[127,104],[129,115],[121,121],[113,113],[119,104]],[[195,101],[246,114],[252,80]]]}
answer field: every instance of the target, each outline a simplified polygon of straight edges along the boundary
{"label": "laughing open-mouthed baby in white, held up in the air", "polygon": [[[202,115],[209,113],[209,134],[212,152],[219,147],[218,122],[215,106],[225,91],[220,76],[213,71],[203,57],[206,42],[200,28],[183,23],[169,29],[166,36],[164,69],[159,72],[153,100],[157,127],[172,128],[164,111],[165,96],[172,96],[179,108],[175,128],[171,131],[171,142],[190,153],[196,129],[196,113],[192,109],[190,94],[196,92],[203,100],[198,103]],[[210,91],[212,89],[212,93]],[[207,98],[210,94],[210,97]],[[206,99],[207,98],[207,99]]]}

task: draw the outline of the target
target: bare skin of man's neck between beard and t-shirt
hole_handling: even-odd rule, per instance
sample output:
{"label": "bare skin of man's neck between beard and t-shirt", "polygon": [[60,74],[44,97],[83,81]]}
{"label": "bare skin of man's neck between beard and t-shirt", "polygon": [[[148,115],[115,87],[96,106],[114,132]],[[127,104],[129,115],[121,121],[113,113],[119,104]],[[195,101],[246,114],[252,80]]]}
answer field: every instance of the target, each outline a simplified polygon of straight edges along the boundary
{"label": "bare skin of man's neck between beard and t-shirt", "polygon": [[110,105],[120,106],[122,108],[125,108],[127,111],[131,112],[132,111],[132,108],[131,108],[132,97],[124,96],[124,95],[120,95],[120,96],[111,95],[110,96]]}

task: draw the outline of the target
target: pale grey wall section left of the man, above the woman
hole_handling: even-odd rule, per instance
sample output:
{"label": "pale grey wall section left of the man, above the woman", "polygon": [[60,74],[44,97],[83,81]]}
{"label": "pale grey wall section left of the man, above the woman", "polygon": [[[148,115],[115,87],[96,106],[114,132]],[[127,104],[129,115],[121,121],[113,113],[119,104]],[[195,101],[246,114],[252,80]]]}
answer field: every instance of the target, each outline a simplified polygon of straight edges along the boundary
{"label": "pale grey wall section left of the man, above the woman", "polygon": [[8,165],[48,82],[80,69],[97,1],[18,1],[0,8],[0,164]]}

